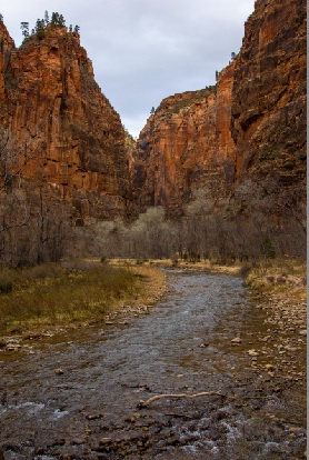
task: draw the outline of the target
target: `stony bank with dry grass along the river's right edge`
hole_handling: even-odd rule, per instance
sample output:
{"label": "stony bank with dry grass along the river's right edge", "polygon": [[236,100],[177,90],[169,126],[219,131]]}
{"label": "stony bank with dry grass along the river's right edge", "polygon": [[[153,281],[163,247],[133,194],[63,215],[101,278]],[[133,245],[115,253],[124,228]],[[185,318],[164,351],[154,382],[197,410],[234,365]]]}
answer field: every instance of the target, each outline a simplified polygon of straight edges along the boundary
{"label": "stony bank with dry grass along the river's right edge", "polygon": [[[306,387],[307,280],[302,261],[258,267],[247,276],[256,308],[263,316],[261,337],[248,353],[258,372]],[[306,401],[305,401],[306,402]]]}

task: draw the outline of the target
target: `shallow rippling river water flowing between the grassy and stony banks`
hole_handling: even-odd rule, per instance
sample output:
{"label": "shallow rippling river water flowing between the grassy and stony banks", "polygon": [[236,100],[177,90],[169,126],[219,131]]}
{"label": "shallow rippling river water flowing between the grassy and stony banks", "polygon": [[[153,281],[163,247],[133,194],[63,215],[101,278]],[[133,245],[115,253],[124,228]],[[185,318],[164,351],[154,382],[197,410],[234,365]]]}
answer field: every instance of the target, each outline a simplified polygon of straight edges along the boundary
{"label": "shallow rippling river water flowing between the grassy and stony banks", "polygon": [[[232,347],[220,347],[252,310],[241,279],[167,274],[170,291],[150,314],[127,326],[53,337],[16,360],[3,357],[0,446],[6,460],[301,458],[293,457],[280,423],[271,432],[262,414],[252,419],[252,410],[265,408],[262,398],[255,399],[253,409],[227,398],[243,379],[252,379],[247,361],[240,363]],[[161,399],[138,408],[154,394],[205,391],[226,397]],[[276,410],[280,404],[273,398],[267,400],[268,413],[271,404]],[[297,449],[302,444],[300,437]]]}

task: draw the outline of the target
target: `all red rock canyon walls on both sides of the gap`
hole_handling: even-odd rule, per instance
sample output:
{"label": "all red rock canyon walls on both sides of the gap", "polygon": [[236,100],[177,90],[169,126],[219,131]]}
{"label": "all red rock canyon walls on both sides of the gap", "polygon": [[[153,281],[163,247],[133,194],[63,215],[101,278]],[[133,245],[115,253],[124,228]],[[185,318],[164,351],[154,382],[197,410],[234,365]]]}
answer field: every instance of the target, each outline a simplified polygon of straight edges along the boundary
{"label": "all red rock canyon walls on both sides of the gap", "polygon": [[26,163],[22,178],[48,183],[74,220],[150,206],[177,217],[198,190],[215,210],[239,211],[243,183],[292,212],[305,201],[306,2],[256,1],[217,84],[165,99],[137,149],[67,28],[47,26],[16,49],[0,22],[0,102],[16,171]]}

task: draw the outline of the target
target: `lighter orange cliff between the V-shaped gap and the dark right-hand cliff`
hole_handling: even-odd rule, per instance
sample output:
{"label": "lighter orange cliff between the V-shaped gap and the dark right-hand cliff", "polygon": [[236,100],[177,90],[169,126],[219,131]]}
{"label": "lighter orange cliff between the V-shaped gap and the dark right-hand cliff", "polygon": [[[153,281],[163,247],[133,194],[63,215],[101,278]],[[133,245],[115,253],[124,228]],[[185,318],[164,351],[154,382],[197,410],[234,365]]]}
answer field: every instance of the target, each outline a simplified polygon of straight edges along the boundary
{"label": "lighter orange cliff between the V-shaped gap and the dark right-hand cliff", "polygon": [[134,159],[141,208],[165,206],[177,214],[201,187],[218,200],[226,196],[236,158],[229,126],[233,71],[231,63],[216,87],[167,98],[150,116]]}

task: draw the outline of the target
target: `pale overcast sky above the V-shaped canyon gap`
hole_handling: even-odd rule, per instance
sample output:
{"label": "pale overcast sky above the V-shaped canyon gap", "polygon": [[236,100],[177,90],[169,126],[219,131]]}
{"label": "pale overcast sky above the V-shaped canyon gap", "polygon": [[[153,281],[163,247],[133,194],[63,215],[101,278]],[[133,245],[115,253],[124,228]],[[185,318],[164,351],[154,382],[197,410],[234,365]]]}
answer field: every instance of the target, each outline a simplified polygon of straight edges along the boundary
{"label": "pale overcast sky above the V-shaped canyon gap", "polygon": [[0,12],[19,46],[48,10],[80,26],[96,80],[133,134],[152,106],[177,92],[215,84],[238,52],[255,0],[8,0]]}

